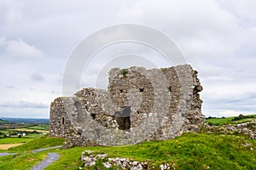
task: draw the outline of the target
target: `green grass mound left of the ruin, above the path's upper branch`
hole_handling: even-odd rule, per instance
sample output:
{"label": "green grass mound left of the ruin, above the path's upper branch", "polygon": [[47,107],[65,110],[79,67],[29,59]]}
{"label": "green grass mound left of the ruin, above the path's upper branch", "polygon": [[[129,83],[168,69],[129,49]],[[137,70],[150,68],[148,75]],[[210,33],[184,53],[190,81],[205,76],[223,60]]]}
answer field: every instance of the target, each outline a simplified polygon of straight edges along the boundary
{"label": "green grass mound left of the ruin, above the path's upper branch", "polygon": [[38,139],[33,139],[32,141],[27,142],[26,144],[9,148],[9,150],[15,150],[15,151],[37,150],[40,148],[47,148],[51,146],[62,145],[63,143],[64,143],[64,139],[62,138],[47,138],[44,136]]}

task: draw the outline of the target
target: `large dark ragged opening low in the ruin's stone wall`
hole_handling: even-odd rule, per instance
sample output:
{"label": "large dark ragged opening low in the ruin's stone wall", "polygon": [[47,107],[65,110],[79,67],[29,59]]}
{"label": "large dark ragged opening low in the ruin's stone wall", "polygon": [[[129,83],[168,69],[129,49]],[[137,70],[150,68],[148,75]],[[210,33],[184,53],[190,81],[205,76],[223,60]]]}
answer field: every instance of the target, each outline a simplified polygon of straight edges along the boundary
{"label": "large dark ragged opening low in the ruin's stone wall", "polygon": [[119,129],[129,130],[131,128],[131,107],[124,107],[123,111],[115,111],[114,119],[119,124]]}

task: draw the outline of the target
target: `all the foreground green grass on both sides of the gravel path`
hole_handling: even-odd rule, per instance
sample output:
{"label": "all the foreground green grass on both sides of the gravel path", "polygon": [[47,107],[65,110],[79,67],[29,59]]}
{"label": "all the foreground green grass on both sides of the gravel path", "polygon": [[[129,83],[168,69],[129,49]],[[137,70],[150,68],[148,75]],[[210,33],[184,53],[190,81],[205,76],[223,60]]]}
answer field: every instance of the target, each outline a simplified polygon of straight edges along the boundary
{"label": "all the foreground green grass on both sides of the gravel path", "polygon": [[[80,156],[83,150],[106,153],[109,157],[149,161],[151,166],[157,167],[156,169],[164,162],[176,169],[256,169],[256,139],[216,133],[183,133],[172,140],[136,145],[75,147],[32,153],[32,150],[62,143],[63,139],[43,137],[14,147],[9,151],[18,152],[19,155],[0,157],[0,169],[29,169],[38,161],[42,161],[49,152],[58,153],[61,157],[46,169],[78,169],[82,164]],[[98,167],[90,169],[96,168]]]}

